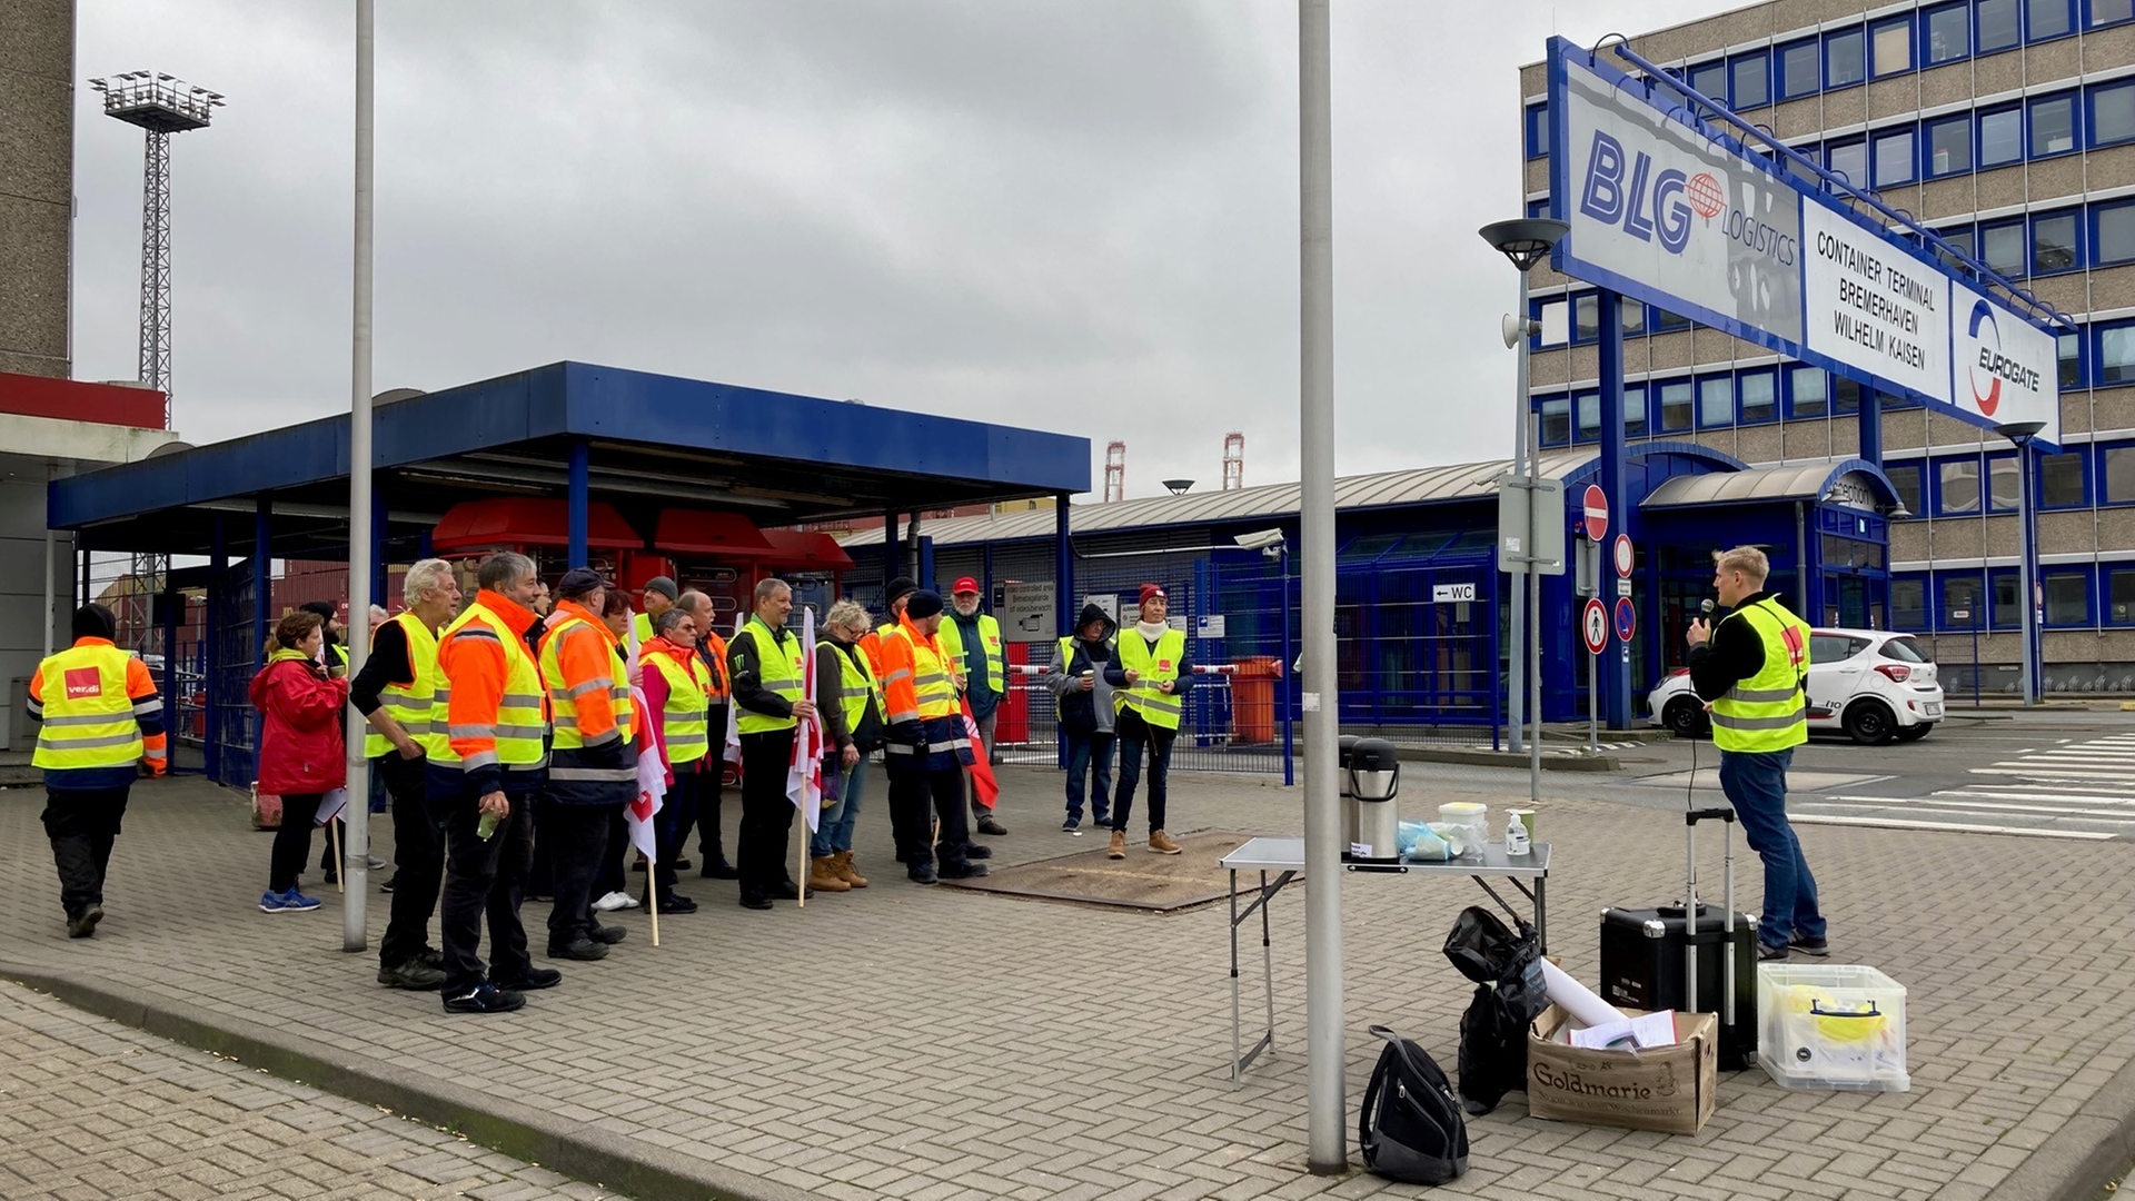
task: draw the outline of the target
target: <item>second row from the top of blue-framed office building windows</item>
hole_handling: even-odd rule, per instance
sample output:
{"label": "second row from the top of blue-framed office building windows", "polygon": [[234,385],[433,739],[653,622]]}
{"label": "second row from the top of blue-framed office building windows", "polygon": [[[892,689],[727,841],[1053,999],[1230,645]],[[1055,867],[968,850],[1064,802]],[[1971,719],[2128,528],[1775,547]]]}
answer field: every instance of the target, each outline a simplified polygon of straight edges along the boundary
{"label": "second row from the top of blue-framed office building windows", "polygon": [[[1793,150],[1860,188],[1898,188],[2135,141],[2135,79],[1877,126]],[[1798,175],[1808,175],[1789,165]]]}

